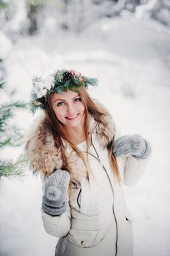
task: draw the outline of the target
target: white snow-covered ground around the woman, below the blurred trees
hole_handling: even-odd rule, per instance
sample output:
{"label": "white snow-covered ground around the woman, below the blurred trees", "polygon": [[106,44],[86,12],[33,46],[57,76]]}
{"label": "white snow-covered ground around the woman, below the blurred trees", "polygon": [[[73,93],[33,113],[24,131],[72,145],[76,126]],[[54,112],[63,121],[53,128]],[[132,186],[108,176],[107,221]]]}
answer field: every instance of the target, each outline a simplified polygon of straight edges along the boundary
{"label": "white snow-covered ground around the woman, below the blurred trees", "polygon": [[[134,187],[125,187],[135,219],[134,256],[170,255],[169,45],[169,31],[159,23],[116,18],[94,24],[80,37],[58,32],[20,38],[5,61],[14,99],[28,100],[32,75],[55,69],[99,78],[100,86],[89,93],[107,106],[122,134],[140,133],[150,140],[152,159],[144,176]],[[25,129],[33,120],[26,111],[16,117]],[[23,182],[4,179],[0,190],[0,255],[53,256],[58,238],[42,226],[39,177],[28,173]]]}

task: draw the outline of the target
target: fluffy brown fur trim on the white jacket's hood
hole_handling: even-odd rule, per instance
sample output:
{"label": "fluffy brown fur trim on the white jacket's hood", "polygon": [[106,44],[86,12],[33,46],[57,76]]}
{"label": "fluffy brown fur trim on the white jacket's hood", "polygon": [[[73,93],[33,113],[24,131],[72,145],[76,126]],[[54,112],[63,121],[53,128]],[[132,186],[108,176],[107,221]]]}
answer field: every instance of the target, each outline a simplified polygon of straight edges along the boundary
{"label": "fluffy brown fur trim on the white jacket's hood", "polygon": [[[26,154],[31,161],[31,168],[34,172],[41,172],[49,176],[54,169],[62,167],[61,150],[55,147],[53,135],[46,125],[47,118],[45,113],[36,121],[26,138]],[[100,145],[105,148],[115,135],[115,124],[109,113],[101,116],[100,122],[97,122],[93,116],[88,116],[88,133],[96,132]],[[71,146],[63,140],[66,158],[69,164],[69,172],[72,181],[79,182],[82,178],[87,178],[87,171],[82,159],[72,150]]]}

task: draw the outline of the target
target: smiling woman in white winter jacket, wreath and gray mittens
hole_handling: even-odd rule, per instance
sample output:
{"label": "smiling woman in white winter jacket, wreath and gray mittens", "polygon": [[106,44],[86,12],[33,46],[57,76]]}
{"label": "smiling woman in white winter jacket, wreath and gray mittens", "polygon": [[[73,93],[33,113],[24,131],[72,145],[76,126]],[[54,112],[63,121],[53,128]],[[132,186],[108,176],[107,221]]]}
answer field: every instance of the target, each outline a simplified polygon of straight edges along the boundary
{"label": "smiling woman in white winter jacket, wreath and gray mittens", "polygon": [[55,256],[132,256],[133,218],[123,184],[142,176],[151,146],[141,135],[120,136],[106,108],[74,70],[34,78],[33,112],[43,114],[26,143],[42,178],[42,221],[59,238]]}

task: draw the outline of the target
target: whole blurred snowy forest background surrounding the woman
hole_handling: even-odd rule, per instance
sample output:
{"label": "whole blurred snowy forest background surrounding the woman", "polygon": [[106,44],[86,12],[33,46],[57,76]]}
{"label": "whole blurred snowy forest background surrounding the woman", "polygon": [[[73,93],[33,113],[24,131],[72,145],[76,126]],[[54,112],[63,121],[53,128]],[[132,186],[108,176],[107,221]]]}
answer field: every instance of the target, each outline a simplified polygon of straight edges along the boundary
{"label": "whole blurred snowy forest background surrounding the woman", "polygon": [[[169,0],[0,0],[1,159],[18,159],[39,115],[27,108],[33,75],[76,69],[98,78],[90,95],[123,135],[142,134],[153,149],[144,176],[125,187],[134,256],[170,255],[169,26]],[[9,177],[2,160],[0,255],[53,256],[58,238],[42,226],[39,176],[26,167]]]}

